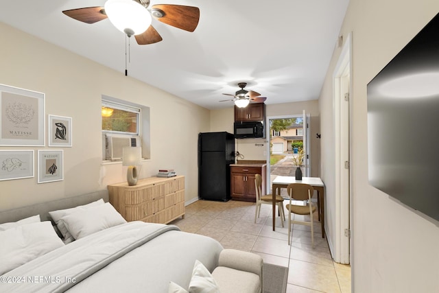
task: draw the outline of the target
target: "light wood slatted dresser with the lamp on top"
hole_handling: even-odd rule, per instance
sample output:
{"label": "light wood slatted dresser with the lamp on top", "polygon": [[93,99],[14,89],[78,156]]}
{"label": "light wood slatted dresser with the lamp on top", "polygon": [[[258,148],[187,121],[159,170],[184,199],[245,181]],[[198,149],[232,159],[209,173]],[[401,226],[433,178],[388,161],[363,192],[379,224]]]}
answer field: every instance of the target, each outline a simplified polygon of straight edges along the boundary
{"label": "light wood slatted dresser with the lamp on top", "polygon": [[150,177],[128,186],[108,185],[110,203],[130,221],[167,224],[185,218],[185,176]]}

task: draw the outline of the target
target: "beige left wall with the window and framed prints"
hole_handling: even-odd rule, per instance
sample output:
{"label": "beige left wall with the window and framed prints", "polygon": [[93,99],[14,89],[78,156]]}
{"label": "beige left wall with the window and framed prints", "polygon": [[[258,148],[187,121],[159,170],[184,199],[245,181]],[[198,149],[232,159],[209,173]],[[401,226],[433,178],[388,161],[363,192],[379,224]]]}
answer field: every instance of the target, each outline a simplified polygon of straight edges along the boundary
{"label": "beige left wall with the window and framed prints", "polygon": [[85,194],[126,180],[121,163],[101,165],[102,95],[150,107],[152,159],[143,163],[141,177],[153,176],[161,167],[174,168],[186,176],[186,200],[198,198],[198,132],[210,131],[209,110],[126,77],[123,69],[108,69],[3,23],[0,43],[0,83],[45,93],[46,119],[73,119],[72,148],[48,148],[47,138],[46,147],[0,147],[36,153],[64,150],[64,180],[0,181],[0,210]]}

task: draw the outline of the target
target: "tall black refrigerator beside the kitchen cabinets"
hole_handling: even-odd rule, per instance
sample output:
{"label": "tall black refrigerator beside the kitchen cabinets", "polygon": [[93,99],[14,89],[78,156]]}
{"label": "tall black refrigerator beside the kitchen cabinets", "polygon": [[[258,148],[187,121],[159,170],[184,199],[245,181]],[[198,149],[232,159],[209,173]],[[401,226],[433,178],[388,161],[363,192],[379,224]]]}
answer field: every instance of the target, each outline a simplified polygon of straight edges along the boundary
{"label": "tall black refrigerator beside the kitchen cabinets", "polygon": [[235,138],[228,132],[198,134],[198,198],[230,200],[230,164],[235,163]]}

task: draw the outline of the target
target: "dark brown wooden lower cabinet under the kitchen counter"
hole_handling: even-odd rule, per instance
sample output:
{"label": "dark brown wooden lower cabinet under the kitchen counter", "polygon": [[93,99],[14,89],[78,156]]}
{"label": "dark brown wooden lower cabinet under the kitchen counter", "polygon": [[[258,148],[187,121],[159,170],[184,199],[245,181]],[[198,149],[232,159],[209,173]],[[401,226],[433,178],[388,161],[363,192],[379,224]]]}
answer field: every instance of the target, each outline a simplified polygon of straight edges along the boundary
{"label": "dark brown wooden lower cabinet under the kitchen counter", "polygon": [[264,167],[230,167],[230,193],[233,200],[256,202],[256,174],[262,176],[263,194],[265,194],[265,166]]}

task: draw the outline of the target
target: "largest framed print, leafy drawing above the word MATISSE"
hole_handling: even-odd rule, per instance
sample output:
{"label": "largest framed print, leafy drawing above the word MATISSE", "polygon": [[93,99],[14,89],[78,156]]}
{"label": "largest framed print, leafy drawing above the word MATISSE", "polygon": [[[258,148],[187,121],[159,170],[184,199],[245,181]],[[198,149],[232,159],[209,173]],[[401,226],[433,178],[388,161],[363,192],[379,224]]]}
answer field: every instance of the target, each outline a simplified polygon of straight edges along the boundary
{"label": "largest framed print, leafy drawing above the word MATISSE", "polygon": [[0,84],[0,145],[45,145],[45,94]]}

